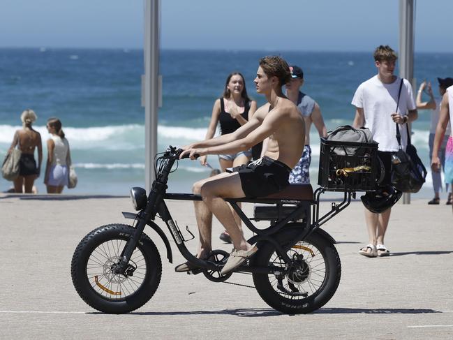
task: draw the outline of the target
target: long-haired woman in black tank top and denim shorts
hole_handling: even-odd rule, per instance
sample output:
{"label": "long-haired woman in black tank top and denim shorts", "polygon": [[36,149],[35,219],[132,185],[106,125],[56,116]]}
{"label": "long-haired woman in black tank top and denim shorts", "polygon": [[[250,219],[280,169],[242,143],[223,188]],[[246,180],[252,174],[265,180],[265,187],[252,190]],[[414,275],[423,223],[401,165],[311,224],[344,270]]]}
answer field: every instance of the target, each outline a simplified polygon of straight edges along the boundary
{"label": "long-haired woman in black tank top and denim shorts", "polygon": [[[212,108],[211,121],[207,129],[205,140],[214,137],[217,124],[220,123],[221,134],[235,132],[242,125],[246,124],[248,119],[256,111],[256,102],[247,96],[244,76],[239,72],[233,72],[228,75],[225,82],[225,90],[221,98],[218,98]],[[232,168],[238,165],[246,164],[251,160],[252,150],[238,152],[237,154],[219,155],[218,161],[222,171],[226,168]],[[207,156],[200,157],[200,163],[206,165]],[[241,226],[241,219],[233,212],[237,225]],[[230,243],[230,235],[222,232],[221,239]]]}

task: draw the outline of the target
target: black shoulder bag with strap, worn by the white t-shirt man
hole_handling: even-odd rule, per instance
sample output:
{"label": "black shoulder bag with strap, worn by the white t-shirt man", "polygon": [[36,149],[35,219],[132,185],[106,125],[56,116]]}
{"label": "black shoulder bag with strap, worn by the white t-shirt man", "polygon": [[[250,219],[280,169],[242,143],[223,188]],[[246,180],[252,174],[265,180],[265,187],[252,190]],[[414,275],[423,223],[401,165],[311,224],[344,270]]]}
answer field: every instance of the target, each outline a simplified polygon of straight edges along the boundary
{"label": "black shoulder bag with strap, worn by the white t-shirt man", "polygon": [[[401,79],[395,112],[398,112],[402,86],[403,80]],[[403,193],[417,193],[425,182],[426,168],[417,155],[417,149],[410,143],[407,123],[406,131],[408,132],[408,146],[406,147],[406,151],[404,151],[401,147],[399,126],[396,123],[396,140],[398,140],[399,150],[392,155],[392,186],[399,191],[403,191]]]}

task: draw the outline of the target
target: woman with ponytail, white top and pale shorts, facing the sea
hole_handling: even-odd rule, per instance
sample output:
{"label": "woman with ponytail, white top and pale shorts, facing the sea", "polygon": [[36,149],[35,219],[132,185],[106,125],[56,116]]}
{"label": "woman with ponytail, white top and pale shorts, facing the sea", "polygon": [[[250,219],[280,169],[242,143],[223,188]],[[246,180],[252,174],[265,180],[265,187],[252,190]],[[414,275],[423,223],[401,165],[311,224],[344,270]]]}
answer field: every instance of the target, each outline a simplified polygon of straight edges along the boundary
{"label": "woman with ponytail, white top and pale shorts, facing the sea", "polygon": [[61,193],[68,186],[70,166],[69,143],[61,130],[61,121],[57,118],[47,120],[47,164],[45,165],[44,183],[47,193]]}

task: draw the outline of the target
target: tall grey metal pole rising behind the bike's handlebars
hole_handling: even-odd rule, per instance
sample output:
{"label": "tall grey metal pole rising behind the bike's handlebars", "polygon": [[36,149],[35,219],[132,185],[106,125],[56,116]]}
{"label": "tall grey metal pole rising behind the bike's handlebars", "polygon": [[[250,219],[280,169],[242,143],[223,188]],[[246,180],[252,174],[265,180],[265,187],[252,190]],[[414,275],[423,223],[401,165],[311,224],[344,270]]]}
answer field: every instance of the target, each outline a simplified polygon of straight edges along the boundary
{"label": "tall grey metal pole rising behind the bike's handlebars", "polygon": [[144,149],[145,188],[149,191],[156,177],[154,156],[157,152],[159,104],[159,23],[160,0],[145,0],[144,10]]}

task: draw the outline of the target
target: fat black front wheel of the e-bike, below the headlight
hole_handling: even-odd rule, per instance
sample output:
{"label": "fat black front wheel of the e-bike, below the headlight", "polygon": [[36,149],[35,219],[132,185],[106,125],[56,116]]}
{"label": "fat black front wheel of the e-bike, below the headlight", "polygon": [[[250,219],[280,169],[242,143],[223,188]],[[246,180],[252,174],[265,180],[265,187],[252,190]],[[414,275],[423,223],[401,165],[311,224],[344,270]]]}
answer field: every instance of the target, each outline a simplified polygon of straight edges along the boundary
{"label": "fat black front wheel of the e-bike, below the headlight", "polygon": [[134,231],[125,224],[102,226],[89,232],[74,251],[71,276],[75,290],[98,311],[119,314],[138,309],[151,299],[161,282],[161,256],[145,234],[129,262],[133,273],[124,276],[112,272]]}

